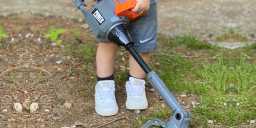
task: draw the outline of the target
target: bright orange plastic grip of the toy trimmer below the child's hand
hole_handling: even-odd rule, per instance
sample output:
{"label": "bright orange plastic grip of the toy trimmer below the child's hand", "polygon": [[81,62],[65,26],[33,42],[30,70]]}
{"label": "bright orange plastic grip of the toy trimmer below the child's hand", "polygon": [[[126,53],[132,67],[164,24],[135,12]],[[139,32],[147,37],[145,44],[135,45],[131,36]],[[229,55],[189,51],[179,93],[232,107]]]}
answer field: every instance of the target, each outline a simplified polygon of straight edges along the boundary
{"label": "bright orange plastic grip of the toy trimmer below the child's hand", "polygon": [[132,11],[132,9],[136,6],[137,2],[136,0],[129,0],[129,1],[125,1],[122,3],[119,3],[117,0],[114,0],[116,3],[116,7],[115,7],[115,13],[117,16],[128,16],[130,20],[134,20],[137,17],[144,15],[143,14],[136,14]]}

